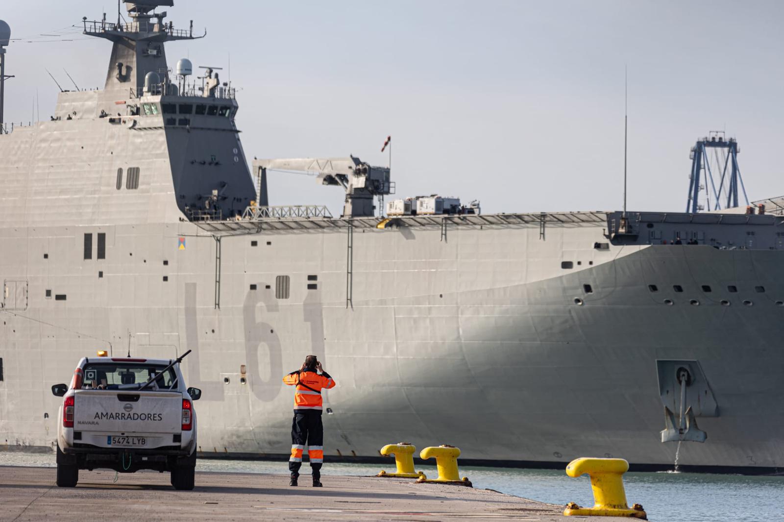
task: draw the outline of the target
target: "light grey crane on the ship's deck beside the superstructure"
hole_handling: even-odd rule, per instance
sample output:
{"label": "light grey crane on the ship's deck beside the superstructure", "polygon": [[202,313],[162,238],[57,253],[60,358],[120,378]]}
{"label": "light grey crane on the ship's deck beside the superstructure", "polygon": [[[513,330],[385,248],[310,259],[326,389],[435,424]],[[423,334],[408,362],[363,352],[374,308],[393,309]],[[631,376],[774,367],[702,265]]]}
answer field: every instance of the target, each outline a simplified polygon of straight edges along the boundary
{"label": "light grey crane on the ship's deck beside the superstructure", "polygon": [[258,183],[259,205],[269,205],[267,197],[267,170],[299,172],[316,176],[321,185],[339,185],[346,190],[343,217],[375,216],[373,198],[379,198],[383,213],[383,198],[394,194],[390,169],[375,167],[349,155],[348,158],[292,158],[254,160],[253,172]]}

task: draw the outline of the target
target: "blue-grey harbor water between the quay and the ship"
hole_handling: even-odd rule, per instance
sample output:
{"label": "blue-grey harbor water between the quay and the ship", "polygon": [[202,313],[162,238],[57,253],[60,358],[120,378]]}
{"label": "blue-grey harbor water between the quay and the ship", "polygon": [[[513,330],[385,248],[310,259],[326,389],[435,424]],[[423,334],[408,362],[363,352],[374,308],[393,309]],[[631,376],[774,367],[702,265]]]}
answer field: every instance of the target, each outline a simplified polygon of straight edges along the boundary
{"label": "blue-grey harbor water between the quay and the ship", "polygon": [[[55,462],[54,455],[0,452],[0,466],[53,467]],[[286,462],[199,459],[196,469],[224,473],[280,473],[281,482],[288,481]],[[328,484],[328,475],[375,475],[380,469],[394,471],[394,459],[385,466],[326,462],[322,481]],[[435,466],[417,466],[416,469],[428,476],[437,476]],[[306,464],[303,473],[308,471]],[[581,506],[593,505],[588,477],[569,478],[561,470],[461,466],[460,474],[469,477],[474,488],[494,489],[553,504],[577,502]],[[118,484],[122,483],[132,484],[133,476],[121,475]],[[648,512],[648,518],[655,522],[784,520],[781,508],[784,477],[626,473],[624,483],[630,504],[641,503]],[[423,484],[423,488],[426,487]]]}

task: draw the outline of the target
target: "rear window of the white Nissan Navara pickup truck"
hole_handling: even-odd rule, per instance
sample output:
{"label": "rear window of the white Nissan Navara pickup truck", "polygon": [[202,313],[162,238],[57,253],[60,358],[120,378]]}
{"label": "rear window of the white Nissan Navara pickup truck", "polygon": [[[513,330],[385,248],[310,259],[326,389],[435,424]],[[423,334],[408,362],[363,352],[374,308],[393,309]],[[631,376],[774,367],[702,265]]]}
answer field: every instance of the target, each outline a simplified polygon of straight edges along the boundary
{"label": "rear window of the white Nissan Navara pickup truck", "polygon": [[156,379],[145,390],[173,390],[177,375],[172,368],[145,363],[88,363],[84,368],[82,390],[138,390],[152,376]]}

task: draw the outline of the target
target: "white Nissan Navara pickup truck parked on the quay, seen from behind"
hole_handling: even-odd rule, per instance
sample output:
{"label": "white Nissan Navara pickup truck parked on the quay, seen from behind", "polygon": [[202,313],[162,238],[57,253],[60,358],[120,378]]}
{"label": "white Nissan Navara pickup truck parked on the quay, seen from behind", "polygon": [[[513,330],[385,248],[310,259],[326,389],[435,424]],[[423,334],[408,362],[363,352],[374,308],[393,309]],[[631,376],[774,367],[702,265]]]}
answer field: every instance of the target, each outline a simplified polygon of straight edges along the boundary
{"label": "white Nissan Navara pickup truck parked on the quay, seen from behind", "polygon": [[171,473],[176,489],[194,488],[198,388],[186,388],[180,361],[82,358],[64,397],[57,430],[57,485],[73,488],[79,469]]}

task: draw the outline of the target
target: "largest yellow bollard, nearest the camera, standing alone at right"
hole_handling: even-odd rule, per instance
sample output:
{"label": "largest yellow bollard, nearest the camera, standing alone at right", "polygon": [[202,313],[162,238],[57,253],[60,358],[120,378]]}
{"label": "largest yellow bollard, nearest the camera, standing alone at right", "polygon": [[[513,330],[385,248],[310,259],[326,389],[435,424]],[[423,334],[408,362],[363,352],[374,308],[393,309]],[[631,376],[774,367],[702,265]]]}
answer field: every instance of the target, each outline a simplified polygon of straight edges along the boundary
{"label": "largest yellow bollard, nearest the camera, standing alone at right", "polygon": [[575,459],[566,466],[569,477],[580,477],[585,473],[590,476],[593,489],[594,506],[583,508],[569,502],[564,515],[593,515],[597,517],[633,517],[648,520],[640,504],[632,509],[626,503],[626,491],[623,490],[623,473],[629,470],[629,462],[624,459]]}

